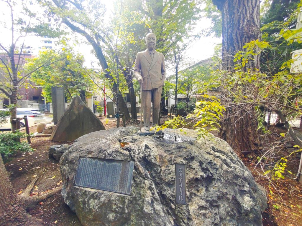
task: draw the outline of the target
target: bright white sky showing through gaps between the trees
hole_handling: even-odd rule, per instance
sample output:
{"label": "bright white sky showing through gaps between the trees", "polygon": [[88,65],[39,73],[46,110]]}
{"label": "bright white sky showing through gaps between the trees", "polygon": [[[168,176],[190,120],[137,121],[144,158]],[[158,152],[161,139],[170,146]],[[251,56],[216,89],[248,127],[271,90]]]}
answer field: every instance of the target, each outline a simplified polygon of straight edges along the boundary
{"label": "bright white sky showing through gaps between the trees", "polygon": [[[18,0],[17,2],[19,2]],[[21,2],[21,1],[20,1]],[[102,1],[106,5],[107,12],[110,14],[111,11],[113,11],[113,2],[112,1]],[[21,5],[15,6],[16,11],[21,9]],[[0,26],[3,22],[7,21],[9,22],[9,17],[7,16],[9,12],[9,8],[4,5],[4,3],[0,2]],[[211,21],[208,18],[201,17],[200,20],[197,21],[195,30],[192,31],[192,33],[198,33],[200,30],[210,27]],[[1,26],[3,27],[3,26]],[[8,28],[1,28],[1,36],[0,36],[0,43],[7,46],[11,42],[11,32]],[[3,35],[5,34],[5,35]],[[70,43],[73,42],[74,39],[77,39],[79,41],[79,45],[74,47],[74,50],[77,52],[80,52],[82,55],[84,55],[85,63],[84,66],[86,67],[93,67],[93,68],[100,68],[98,66],[98,59],[95,58],[95,56],[91,53],[92,46],[88,45],[81,35],[72,35],[69,36]],[[20,38],[19,42],[22,43],[24,38]],[[25,45],[32,46],[37,48],[39,45],[41,45],[41,37],[32,36],[29,35],[25,38]],[[214,54],[214,47],[217,45],[217,43],[221,43],[221,38],[216,38],[214,36],[202,36],[198,41],[195,41],[191,44],[191,47],[186,50],[186,55],[191,59],[191,63],[194,64],[198,61],[204,60],[206,58],[209,58],[213,56]],[[143,49],[142,49],[143,51]],[[37,51],[36,51],[37,52]],[[167,65],[167,75],[173,74],[173,71],[169,70],[169,66]]]}

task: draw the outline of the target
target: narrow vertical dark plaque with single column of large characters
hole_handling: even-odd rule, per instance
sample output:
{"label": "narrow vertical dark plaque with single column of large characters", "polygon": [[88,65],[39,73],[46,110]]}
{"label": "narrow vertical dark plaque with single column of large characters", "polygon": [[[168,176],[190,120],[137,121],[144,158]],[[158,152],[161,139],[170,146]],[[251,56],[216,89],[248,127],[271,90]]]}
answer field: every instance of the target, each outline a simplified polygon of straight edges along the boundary
{"label": "narrow vertical dark plaque with single column of large characters", "polygon": [[175,200],[176,204],[186,205],[186,166],[175,164]]}

